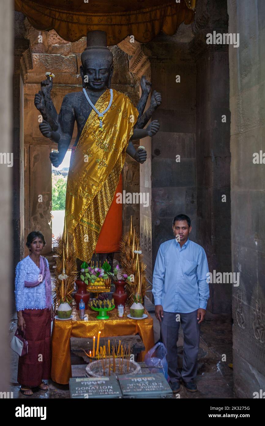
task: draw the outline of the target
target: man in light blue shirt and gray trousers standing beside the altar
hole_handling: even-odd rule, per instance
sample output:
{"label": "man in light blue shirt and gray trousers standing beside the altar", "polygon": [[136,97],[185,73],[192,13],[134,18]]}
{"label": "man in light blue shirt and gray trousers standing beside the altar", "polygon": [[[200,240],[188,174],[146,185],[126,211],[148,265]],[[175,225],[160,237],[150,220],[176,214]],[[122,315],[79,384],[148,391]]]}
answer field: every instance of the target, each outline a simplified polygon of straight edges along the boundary
{"label": "man in light blue shirt and gray trousers standing beside the altar", "polygon": [[[153,274],[155,313],[160,321],[162,340],[168,351],[168,374],[174,393],[180,383],[197,391],[200,323],[204,320],[209,286],[205,251],[188,239],[191,219],[180,214],[173,219],[174,239],[160,245]],[[177,368],[177,341],[180,322],[184,334],[182,374]]]}

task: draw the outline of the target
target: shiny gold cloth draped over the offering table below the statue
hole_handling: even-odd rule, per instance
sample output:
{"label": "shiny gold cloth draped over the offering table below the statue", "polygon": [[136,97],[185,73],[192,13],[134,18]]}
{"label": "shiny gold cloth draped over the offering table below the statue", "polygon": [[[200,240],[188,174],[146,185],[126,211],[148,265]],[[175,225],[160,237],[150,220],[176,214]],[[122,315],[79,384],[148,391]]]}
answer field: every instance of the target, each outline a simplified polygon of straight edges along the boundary
{"label": "shiny gold cloth draped over the offering table below the statue", "polygon": [[97,320],[97,311],[88,309],[88,321],[80,320],[79,311],[73,307],[72,320],[54,320],[51,335],[51,378],[54,382],[68,384],[71,377],[70,337],[93,337],[101,331],[103,337],[139,334],[145,351],[140,352],[138,360],[143,361],[146,352],[154,346],[153,319],[148,315],[145,320],[131,320],[127,317],[130,309],[126,306],[124,317],[117,317],[117,309],[109,311],[108,320]]}

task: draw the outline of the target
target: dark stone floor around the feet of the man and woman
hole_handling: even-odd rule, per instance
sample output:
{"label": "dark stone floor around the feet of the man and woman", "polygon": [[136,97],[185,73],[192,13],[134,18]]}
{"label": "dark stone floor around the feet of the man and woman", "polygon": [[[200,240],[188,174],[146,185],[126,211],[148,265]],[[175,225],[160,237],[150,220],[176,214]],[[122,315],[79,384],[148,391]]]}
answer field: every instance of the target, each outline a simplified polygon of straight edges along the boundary
{"label": "dark stone floor around the feet of the man and woman", "polygon": [[[160,339],[160,325],[154,314],[154,305],[149,299],[145,300],[145,307],[154,320],[155,342]],[[16,312],[12,314],[10,322],[10,340],[17,328]],[[179,348],[179,367],[182,366],[183,334],[177,343]],[[11,350],[10,350],[11,351]],[[222,361],[226,356],[226,361]],[[28,398],[19,391],[17,383],[18,356],[11,351],[11,383],[10,391],[14,398]],[[200,349],[198,356],[198,375],[196,378],[198,391],[188,392],[181,385],[180,398],[234,398],[233,370],[228,367],[232,363],[232,324],[226,315],[206,313],[206,319],[201,324]],[[48,391],[34,391],[33,398],[69,398],[68,385],[59,385],[52,380],[48,381]],[[32,398],[31,397],[31,398]]]}

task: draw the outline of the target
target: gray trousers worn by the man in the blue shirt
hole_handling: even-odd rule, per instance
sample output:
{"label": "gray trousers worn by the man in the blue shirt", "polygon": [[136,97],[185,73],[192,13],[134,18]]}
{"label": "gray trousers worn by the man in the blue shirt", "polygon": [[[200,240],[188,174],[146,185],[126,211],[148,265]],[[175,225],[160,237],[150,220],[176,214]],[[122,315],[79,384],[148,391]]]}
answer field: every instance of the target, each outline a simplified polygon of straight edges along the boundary
{"label": "gray trousers worn by the man in the blue shirt", "polygon": [[[177,314],[180,315],[180,321],[176,321]],[[168,351],[167,361],[170,382],[174,383],[177,380],[181,380],[181,378],[185,382],[190,382],[196,377],[198,366],[200,324],[198,324],[197,320],[197,309],[189,314],[164,311],[163,316],[160,328],[163,343]],[[180,322],[184,334],[182,374],[180,374],[177,367],[177,341]]]}

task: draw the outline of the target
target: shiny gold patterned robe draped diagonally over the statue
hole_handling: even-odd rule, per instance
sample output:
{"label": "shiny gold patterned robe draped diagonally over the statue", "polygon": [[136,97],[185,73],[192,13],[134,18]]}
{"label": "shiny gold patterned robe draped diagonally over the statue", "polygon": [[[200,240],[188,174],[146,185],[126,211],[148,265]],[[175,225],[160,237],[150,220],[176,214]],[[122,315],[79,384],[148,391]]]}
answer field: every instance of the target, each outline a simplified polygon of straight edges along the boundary
{"label": "shiny gold patterned robe draped diagonally over the statue", "polygon": [[[95,107],[104,111],[110,101],[107,89]],[[74,236],[79,259],[89,262],[108,209],[114,198],[125,161],[125,150],[133,134],[138,111],[128,96],[113,90],[113,101],[103,117],[91,111],[71,157],[67,187],[64,236]]]}

